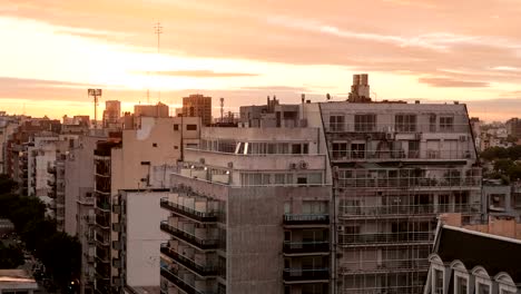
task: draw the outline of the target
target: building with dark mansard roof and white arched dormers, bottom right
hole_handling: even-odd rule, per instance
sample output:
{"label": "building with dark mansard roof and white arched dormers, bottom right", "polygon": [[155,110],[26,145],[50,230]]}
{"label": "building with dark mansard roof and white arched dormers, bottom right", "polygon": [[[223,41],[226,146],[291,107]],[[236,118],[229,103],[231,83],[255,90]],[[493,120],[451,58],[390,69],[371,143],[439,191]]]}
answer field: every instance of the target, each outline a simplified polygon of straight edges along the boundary
{"label": "building with dark mansard roof and white arched dormers, bottom right", "polygon": [[436,231],[423,293],[521,293],[521,235],[517,233],[521,224],[501,219],[474,226],[462,226],[461,219],[449,223]]}

